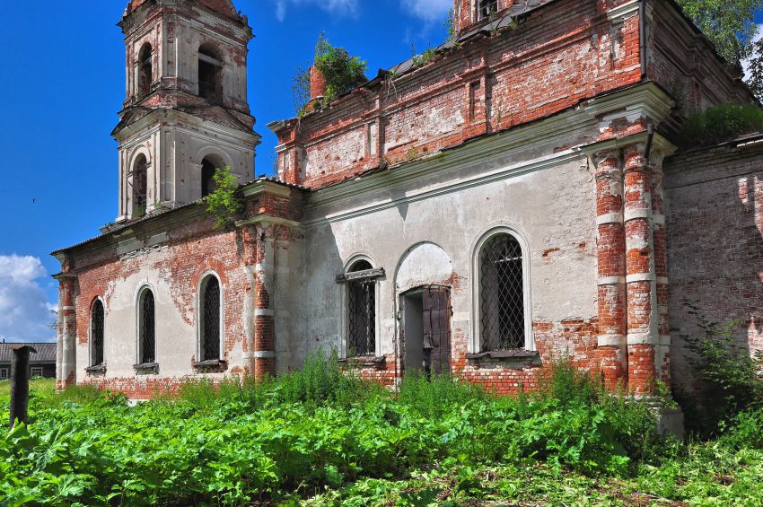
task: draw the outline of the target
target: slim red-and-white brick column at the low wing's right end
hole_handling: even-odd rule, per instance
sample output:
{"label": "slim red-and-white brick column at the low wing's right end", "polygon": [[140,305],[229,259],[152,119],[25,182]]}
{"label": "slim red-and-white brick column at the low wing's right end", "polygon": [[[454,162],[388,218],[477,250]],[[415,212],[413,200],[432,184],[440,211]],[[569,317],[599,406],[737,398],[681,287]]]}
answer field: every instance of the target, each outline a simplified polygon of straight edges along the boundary
{"label": "slim red-and-white brick column at the low wing's right end", "polygon": [[271,305],[275,271],[274,226],[261,223],[257,231],[254,268],[254,375],[261,380],[276,374],[275,315]]}

